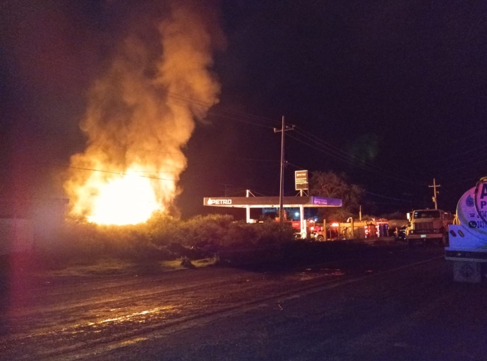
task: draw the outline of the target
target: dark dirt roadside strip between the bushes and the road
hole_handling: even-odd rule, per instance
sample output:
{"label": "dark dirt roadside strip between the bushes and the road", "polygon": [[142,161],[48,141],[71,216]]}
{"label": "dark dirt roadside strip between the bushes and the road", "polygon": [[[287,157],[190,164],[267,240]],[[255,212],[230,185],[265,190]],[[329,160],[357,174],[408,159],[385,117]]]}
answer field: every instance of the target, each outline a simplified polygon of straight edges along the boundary
{"label": "dark dirt roadside strip between the bushes and the road", "polygon": [[161,274],[202,267],[232,267],[254,271],[285,270],[342,257],[344,253],[374,252],[377,247],[400,248],[393,238],[372,240],[335,240],[328,242],[293,242],[252,247],[222,247],[212,257],[172,260],[148,257],[128,259],[119,257],[71,257],[62,255],[11,255],[0,259],[0,287],[11,281],[29,282],[46,279],[69,283],[76,279],[88,281],[111,277]]}

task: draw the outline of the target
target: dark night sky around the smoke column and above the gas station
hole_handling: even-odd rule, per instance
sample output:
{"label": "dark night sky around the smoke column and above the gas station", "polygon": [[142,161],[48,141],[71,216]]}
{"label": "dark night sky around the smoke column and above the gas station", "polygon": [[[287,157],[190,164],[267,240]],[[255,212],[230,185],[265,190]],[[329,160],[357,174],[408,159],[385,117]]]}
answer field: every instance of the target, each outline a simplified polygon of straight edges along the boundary
{"label": "dark night sky around the smoke column and above the gas station", "polygon": [[[4,196],[59,195],[52,164],[84,149],[86,91],[143,4],[0,3]],[[486,4],[223,0],[220,12],[221,102],[185,150],[184,216],[208,212],[203,197],[225,187],[277,195],[281,116],[297,127],[290,195],[297,169],[343,171],[368,192],[364,213],[406,212],[433,207],[435,177],[440,207],[454,211],[487,175]]]}

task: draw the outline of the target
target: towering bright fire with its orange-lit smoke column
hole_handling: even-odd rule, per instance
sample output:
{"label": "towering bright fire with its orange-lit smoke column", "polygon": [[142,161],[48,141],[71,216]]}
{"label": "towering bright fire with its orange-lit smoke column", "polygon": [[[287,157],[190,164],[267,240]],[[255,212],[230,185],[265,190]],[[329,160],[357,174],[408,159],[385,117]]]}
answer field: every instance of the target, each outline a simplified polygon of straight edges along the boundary
{"label": "towering bright fire with its orange-lit smoke column", "polygon": [[130,35],[92,87],[81,123],[88,147],[71,157],[64,183],[72,214],[138,224],[181,192],[181,147],[193,133],[193,116],[203,118],[217,102],[220,85],[208,71],[215,19],[191,1],[174,1],[171,9],[157,29],[157,60],[153,46]]}

